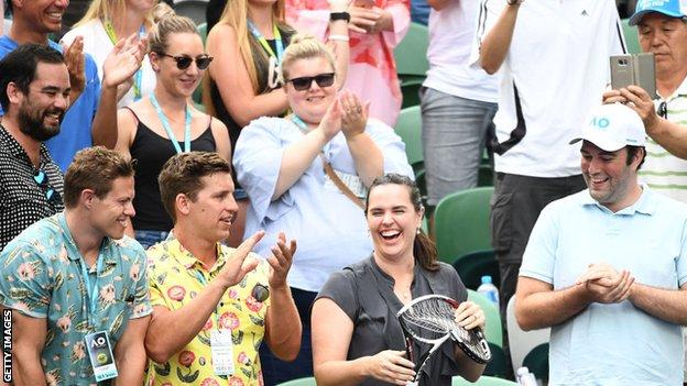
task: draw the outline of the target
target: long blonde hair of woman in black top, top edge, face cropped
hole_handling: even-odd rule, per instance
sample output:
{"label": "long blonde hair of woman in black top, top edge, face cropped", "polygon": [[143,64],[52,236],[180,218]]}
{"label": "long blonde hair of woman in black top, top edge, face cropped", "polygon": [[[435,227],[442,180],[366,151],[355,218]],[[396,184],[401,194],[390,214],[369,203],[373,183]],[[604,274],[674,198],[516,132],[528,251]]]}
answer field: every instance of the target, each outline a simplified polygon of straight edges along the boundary
{"label": "long blonde hair of woman in black top, top edge, face cropped", "polygon": [[[280,30],[291,30],[284,22],[285,19],[285,5],[284,0],[276,0],[272,5],[272,23],[275,23]],[[270,57],[262,49],[260,43],[248,31],[248,0],[230,0],[225,7],[221,18],[217,24],[229,24],[236,31],[238,37],[239,52],[241,58],[248,68],[248,77],[250,78],[251,86],[255,93],[262,92],[258,81],[258,70],[255,68],[254,59],[264,62],[265,68]],[[283,38],[283,37],[282,37]],[[258,55],[258,57],[255,57]]]}

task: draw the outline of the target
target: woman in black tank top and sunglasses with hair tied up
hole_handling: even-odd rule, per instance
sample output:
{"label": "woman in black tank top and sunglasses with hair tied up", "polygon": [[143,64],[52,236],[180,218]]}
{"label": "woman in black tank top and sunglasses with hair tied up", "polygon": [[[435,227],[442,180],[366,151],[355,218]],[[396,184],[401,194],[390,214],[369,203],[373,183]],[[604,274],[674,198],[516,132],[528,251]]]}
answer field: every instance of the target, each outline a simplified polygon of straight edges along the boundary
{"label": "woman in black tank top and sunglasses with hair tied up", "polygon": [[173,225],[157,184],[164,163],[189,151],[217,152],[231,159],[227,128],[189,102],[212,62],[203,48],[196,25],[188,18],[166,16],[152,29],[149,42],[155,90],[119,111],[116,147],[138,159],[133,199],[137,216],[132,220],[135,232],[131,228],[129,232],[144,247],[164,240]]}

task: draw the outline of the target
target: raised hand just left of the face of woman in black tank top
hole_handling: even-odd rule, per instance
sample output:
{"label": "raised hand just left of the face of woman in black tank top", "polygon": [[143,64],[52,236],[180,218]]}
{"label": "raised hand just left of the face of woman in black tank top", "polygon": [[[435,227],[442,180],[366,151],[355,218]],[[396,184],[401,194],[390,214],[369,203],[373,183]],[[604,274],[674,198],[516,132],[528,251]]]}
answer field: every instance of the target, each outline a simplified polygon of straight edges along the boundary
{"label": "raised hand just left of the face of woman in black tank top", "polygon": [[102,86],[119,87],[141,68],[148,40],[138,33],[117,42],[102,64]]}

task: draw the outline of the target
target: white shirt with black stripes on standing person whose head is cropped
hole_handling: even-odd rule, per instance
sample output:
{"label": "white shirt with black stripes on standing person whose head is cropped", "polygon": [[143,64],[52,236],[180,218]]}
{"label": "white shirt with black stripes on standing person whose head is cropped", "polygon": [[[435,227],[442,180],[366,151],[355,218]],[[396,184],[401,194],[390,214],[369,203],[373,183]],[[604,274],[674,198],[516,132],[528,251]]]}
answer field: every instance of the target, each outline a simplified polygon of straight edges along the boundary
{"label": "white shirt with black stripes on standing person whose head is cropped", "polygon": [[[481,0],[478,41],[495,24],[505,0]],[[580,174],[579,145],[569,145],[590,109],[601,103],[610,79],[609,56],[624,52],[622,26],[613,0],[524,1],[513,40],[501,66],[500,143],[517,125],[515,89],[525,133],[503,155],[497,172],[532,177]],[[479,48],[472,60],[479,65]]]}

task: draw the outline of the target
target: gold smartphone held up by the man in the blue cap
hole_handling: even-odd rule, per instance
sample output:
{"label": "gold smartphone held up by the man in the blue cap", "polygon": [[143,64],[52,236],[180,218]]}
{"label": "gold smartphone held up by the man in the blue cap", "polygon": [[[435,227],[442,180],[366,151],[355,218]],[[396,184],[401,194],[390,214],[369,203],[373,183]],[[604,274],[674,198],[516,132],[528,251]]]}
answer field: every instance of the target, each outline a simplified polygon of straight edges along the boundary
{"label": "gold smartphone held up by the man in the blue cap", "polygon": [[654,54],[611,56],[611,87],[618,90],[630,85],[640,86],[652,99],[658,98]]}

